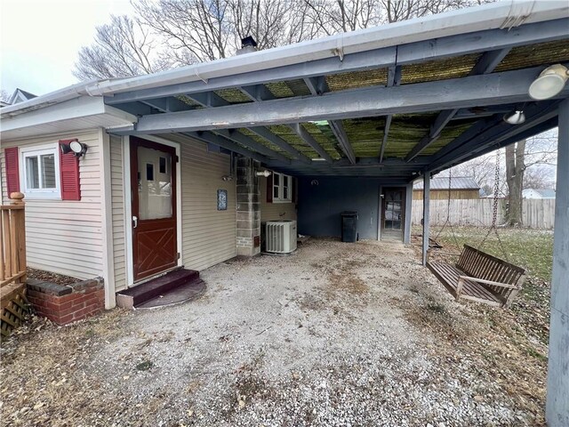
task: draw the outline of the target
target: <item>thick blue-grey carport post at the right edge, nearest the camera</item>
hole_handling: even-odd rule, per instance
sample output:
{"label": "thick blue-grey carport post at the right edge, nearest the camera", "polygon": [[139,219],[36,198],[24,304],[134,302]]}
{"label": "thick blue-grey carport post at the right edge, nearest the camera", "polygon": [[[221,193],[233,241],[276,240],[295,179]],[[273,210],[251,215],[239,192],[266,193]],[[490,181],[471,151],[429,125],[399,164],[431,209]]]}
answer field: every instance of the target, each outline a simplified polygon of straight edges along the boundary
{"label": "thick blue-grey carport post at the right edge, nearest the camera", "polygon": [[545,416],[550,427],[569,425],[569,99],[559,106],[557,191],[551,316],[549,324],[548,394]]}

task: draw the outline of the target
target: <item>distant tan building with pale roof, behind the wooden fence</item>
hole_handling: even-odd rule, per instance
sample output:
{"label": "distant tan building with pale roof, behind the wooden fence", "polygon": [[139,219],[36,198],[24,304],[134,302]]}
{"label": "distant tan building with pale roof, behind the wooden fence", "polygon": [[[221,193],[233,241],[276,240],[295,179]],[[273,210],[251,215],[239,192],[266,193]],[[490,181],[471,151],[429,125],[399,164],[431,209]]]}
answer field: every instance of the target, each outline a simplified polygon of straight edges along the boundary
{"label": "distant tan building with pale roof, behind the wooden fence", "polygon": [[[449,196],[450,181],[450,196]],[[453,176],[450,180],[446,176],[437,176],[430,181],[431,200],[447,198],[480,198],[480,186],[474,178],[469,176]],[[423,183],[415,181],[413,184],[413,200],[423,199]]]}

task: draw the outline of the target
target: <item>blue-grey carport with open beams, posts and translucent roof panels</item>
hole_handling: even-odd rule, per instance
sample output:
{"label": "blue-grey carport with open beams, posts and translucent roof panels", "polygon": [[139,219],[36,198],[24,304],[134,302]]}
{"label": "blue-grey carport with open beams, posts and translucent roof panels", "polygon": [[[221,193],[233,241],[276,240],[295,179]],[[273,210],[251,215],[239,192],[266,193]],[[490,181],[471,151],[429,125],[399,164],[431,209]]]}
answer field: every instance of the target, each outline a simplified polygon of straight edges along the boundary
{"label": "blue-grey carport with open beams, posts and translucent roof panels", "polygon": [[[528,93],[556,64],[569,65],[569,6],[503,2],[102,82],[89,92],[139,117],[112,133],[177,133],[297,177],[307,234],[325,223],[317,213],[360,204],[371,212],[367,237],[381,238],[381,214],[373,224],[385,212],[381,196],[405,189],[396,200],[405,205],[422,177],[424,262],[434,173],[558,125],[557,182],[569,182],[569,86],[541,101]],[[523,123],[505,122],[522,110]],[[411,203],[405,209],[408,241]],[[558,185],[551,425],[569,422],[568,242],[569,188]]]}

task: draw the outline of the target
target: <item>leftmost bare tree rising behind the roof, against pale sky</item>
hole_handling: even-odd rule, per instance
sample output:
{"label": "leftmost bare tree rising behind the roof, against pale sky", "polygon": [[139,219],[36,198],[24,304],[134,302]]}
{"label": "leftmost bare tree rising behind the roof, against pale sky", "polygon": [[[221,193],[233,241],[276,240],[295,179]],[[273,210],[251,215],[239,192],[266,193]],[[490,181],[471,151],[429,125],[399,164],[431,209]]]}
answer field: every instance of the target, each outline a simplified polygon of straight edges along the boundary
{"label": "leftmost bare tree rising behind the roof, against pale sky", "polygon": [[111,15],[110,23],[97,27],[95,41],[82,47],[74,75],[91,78],[127,77],[170,68],[148,29],[128,16]]}

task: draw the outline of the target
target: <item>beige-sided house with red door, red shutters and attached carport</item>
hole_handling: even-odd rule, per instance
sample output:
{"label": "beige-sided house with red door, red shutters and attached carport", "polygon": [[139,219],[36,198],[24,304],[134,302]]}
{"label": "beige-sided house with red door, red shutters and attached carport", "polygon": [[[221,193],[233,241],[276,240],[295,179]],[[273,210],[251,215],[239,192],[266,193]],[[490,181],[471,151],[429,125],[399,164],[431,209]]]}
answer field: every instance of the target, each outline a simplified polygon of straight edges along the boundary
{"label": "beige-sided house with red door, red shutters and attached carport", "polygon": [[[259,254],[269,219],[338,237],[355,210],[359,238],[409,242],[413,181],[557,124],[569,181],[568,25],[565,2],[499,2],[74,85],[0,110],[3,201],[26,194],[29,265],[102,277],[108,308],[172,268]],[[525,122],[504,121],[519,105]],[[423,238],[425,259],[429,221]],[[568,266],[553,270],[548,419],[566,414]]]}

